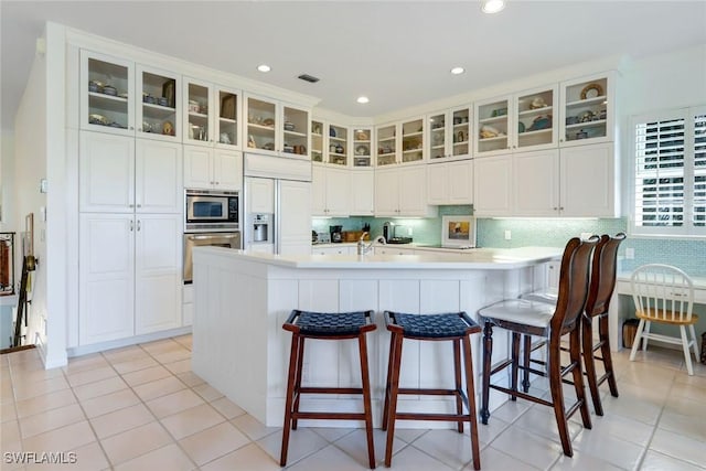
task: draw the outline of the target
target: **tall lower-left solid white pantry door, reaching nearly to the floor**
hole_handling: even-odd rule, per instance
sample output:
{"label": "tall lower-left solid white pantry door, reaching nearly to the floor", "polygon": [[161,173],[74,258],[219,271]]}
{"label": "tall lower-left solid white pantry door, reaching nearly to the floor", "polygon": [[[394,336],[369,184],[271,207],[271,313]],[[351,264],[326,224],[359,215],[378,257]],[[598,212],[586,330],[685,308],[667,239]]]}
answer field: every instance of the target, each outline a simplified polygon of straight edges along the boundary
{"label": "tall lower-left solid white pantry door, reaching nearly to the floor", "polygon": [[135,220],[128,214],[81,214],[78,342],[135,334]]}

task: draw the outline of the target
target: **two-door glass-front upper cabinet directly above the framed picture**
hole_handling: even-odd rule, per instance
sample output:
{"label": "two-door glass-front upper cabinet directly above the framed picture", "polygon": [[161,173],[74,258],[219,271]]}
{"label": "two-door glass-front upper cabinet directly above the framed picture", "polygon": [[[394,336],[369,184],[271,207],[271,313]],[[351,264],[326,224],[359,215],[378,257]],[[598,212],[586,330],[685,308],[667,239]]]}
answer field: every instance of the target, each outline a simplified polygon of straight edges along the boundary
{"label": "two-door glass-front upper cabinet directly above the framed picture", "polygon": [[471,156],[471,110],[468,106],[428,115],[427,126],[429,160]]}

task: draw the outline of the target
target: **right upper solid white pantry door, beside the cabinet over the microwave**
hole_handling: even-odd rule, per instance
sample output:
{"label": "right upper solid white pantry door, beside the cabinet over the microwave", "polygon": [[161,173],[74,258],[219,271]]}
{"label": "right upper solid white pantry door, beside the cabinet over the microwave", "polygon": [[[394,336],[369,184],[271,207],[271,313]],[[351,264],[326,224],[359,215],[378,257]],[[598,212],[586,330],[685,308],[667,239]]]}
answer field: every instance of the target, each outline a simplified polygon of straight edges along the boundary
{"label": "right upper solid white pantry door, beside the cabinet over the microwave", "polygon": [[138,213],[181,214],[182,144],[136,140],[135,206]]}

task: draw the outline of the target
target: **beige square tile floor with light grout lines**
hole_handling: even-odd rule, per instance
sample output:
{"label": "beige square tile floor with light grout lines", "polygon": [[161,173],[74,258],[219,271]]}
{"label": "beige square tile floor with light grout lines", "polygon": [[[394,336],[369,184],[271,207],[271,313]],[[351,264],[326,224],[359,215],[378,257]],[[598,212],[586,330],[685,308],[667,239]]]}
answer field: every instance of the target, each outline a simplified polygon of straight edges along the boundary
{"label": "beige square tile floor with light grout lines", "polygon": [[[35,350],[0,356],[2,470],[278,470],[281,429],[265,427],[191,372],[191,336],[72,358],[45,371]],[[680,352],[614,356],[620,397],[603,417],[571,420],[573,459],[553,411],[507,403],[479,425],[482,469],[706,470],[706,366],[687,376]],[[541,385],[538,385],[541,386]],[[534,386],[533,386],[534,387]],[[385,435],[375,431],[382,467]],[[17,464],[7,452],[65,452],[75,463]],[[73,452],[74,454],[68,454]],[[40,454],[36,458],[42,458]],[[398,429],[393,469],[470,470],[467,435]],[[288,469],[366,469],[360,429],[292,433]]]}

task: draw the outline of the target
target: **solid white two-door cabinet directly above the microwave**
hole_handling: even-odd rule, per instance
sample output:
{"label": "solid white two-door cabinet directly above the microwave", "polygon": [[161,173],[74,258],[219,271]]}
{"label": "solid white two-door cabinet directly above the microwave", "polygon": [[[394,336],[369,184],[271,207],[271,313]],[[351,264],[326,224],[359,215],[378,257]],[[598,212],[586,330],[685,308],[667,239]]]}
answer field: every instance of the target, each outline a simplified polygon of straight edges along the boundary
{"label": "solid white two-door cabinet directly above the microwave", "polygon": [[243,153],[238,150],[184,146],[184,186],[242,190]]}

